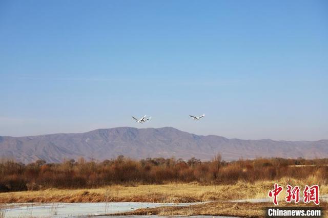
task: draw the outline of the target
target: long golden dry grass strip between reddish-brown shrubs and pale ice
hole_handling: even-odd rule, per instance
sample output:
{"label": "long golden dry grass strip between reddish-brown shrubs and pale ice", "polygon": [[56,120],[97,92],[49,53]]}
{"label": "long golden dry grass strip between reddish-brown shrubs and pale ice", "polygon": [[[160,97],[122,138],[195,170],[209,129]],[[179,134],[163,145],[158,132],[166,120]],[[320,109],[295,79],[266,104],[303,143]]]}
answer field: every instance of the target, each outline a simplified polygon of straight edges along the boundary
{"label": "long golden dry grass strip between reddish-brown shrubs and pale ice", "polygon": [[[183,203],[217,200],[265,198],[274,182],[254,184],[239,181],[235,185],[200,185],[198,183],[170,183],[165,185],[113,185],[96,189],[46,189],[0,193],[0,203],[25,202],[158,202]],[[303,187],[304,181],[282,179],[278,184]],[[327,194],[328,186],[320,186],[320,194]],[[283,194],[280,196],[283,198]]]}

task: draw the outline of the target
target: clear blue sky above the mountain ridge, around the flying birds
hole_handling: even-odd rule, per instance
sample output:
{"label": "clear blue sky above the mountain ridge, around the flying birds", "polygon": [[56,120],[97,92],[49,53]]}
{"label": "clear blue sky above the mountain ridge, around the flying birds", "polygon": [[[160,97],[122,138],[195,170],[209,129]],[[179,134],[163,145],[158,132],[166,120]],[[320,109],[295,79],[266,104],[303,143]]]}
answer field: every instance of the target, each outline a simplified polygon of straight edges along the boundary
{"label": "clear blue sky above the mountain ridge, around the flying birds", "polygon": [[[327,1],[0,1],[0,135],[173,126],[328,139],[327,11]],[[145,114],[151,122],[131,118]]]}

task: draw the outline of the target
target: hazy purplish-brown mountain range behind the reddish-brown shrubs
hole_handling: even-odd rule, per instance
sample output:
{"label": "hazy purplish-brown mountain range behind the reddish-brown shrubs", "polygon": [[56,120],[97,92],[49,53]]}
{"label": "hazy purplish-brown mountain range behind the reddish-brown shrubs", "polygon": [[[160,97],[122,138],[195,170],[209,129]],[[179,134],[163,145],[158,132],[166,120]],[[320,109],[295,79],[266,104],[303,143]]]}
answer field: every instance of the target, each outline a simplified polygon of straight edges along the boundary
{"label": "hazy purplish-brown mountain range behind the reddish-brown shrubs", "polygon": [[173,127],[96,129],[87,133],[51,134],[27,137],[1,137],[0,157],[30,163],[42,159],[105,160],[119,155],[134,159],[196,157],[210,160],[220,153],[224,160],[257,157],[327,158],[328,140],[274,141],[227,139],[221,136],[198,136]]}

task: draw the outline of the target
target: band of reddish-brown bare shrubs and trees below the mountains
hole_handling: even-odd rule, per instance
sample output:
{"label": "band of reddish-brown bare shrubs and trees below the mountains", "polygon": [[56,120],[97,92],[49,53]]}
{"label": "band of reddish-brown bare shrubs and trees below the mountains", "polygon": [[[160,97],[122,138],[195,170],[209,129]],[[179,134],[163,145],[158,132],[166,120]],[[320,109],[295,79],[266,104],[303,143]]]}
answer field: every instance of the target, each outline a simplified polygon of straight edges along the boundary
{"label": "band of reddish-brown bare shrubs and trees below the mountains", "polygon": [[[212,161],[191,158],[147,158],[140,161],[119,156],[103,162],[83,158],[63,163],[22,164],[0,162],[0,192],[46,188],[94,188],[112,184],[162,184],[168,182],[199,182],[203,184],[235,184],[276,181],[283,177],[304,179],[314,177],[326,183],[328,159],[255,159],[226,162],[218,155]],[[294,166],[293,166],[294,165]],[[296,167],[295,165],[315,165]],[[322,178],[322,180],[321,180]]]}

